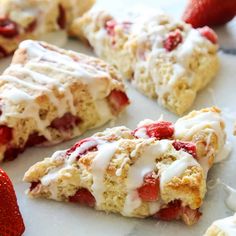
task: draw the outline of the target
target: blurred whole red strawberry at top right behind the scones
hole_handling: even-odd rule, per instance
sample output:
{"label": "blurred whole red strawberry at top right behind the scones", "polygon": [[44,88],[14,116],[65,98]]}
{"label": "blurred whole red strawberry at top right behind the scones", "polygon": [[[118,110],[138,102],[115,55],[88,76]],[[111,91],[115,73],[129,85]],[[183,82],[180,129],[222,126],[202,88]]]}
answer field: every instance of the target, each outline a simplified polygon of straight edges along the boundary
{"label": "blurred whole red strawberry at top right behind the scones", "polygon": [[194,28],[227,23],[236,15],[236,0],[189,0],[183,20]]}

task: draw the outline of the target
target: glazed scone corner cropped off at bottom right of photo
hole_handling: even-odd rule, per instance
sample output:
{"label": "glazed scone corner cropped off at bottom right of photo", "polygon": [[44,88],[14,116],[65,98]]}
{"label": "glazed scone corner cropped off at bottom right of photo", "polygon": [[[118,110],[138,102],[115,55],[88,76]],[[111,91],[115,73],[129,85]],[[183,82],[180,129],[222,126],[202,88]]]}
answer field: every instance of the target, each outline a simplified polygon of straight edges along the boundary
{"label": "glazed scone corner cropped off at bottom right of photo", "polygon": [[236,214],[224,219],[214,221],[204,234],[204,236],[235,236],[235,235],[236,235]]}

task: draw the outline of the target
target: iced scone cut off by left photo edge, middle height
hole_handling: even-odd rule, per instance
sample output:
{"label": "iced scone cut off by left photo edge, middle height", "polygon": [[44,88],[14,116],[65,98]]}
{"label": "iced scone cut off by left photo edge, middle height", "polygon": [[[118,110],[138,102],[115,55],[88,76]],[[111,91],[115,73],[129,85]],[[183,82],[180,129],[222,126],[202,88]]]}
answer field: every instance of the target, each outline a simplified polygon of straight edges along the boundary
{"label": "iced scone cut off by left photo edge, middle height", "polygon": [[0,76],[0,160],[26,147],[71,139],[129,104],[117,71],[103,61],[26,40]]}

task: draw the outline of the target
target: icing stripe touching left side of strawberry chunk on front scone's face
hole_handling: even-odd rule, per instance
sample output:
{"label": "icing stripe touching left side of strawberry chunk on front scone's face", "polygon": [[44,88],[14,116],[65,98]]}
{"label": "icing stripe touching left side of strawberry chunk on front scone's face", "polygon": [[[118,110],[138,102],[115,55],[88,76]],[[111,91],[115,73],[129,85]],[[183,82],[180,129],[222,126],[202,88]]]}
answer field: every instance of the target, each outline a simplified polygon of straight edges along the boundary
{"label": "icing stripe touching left side of strawberry chunk on front scone's face", "polygon": [[[147,140],[147,142],[150,142],[150,140]],[[130,167],[126,180],[127,196],[123,208],[124,215],[131,216],[132,212],[140,206],[141,200],[136,189],[142,185],[144,176],[155,169],[156,160],[167,152],[172,146],[171,143],[169,140],[160,140],[149,146],[142,152],[134,165]],[[137,150],[133,151],[131,157],[136,155],[139,148],[140,146],[137,145]]]}

